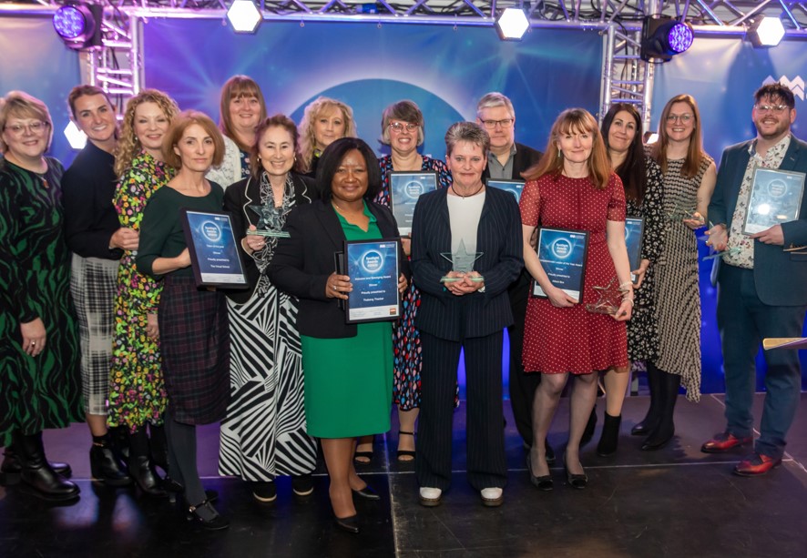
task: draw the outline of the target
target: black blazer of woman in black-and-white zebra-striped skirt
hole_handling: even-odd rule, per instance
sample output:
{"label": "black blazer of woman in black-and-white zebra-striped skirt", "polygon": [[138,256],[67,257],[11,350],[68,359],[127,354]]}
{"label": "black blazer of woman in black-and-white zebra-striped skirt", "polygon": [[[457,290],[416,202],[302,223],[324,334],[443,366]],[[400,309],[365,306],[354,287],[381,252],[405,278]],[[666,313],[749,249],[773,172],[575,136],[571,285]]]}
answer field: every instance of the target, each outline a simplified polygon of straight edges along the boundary
{"label": "black blazer of woman in black-and-white zebra-striped skirt", "polygon": [[[314,181],[312,178],[291,173],[291,184],[294,187],[294,207],[310,204],[314,198]],[[224,190],[224,210],[232,218],[232,230],[235,238],[239,240],[238,249],[241,261],[244,262],[244,272],[247,275],[246,289],[227,289],[224,293],[227,298],[238,304],[243,304],[252,296],[258,285],[260,271],[255,260],[244,251],[240,239],[244,237],[250,225],[258,225],[260,217],[249,206],[260,204],[260,180],[244,178],[240,182],[231,184]]]}

